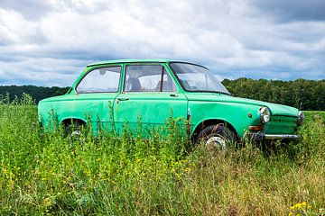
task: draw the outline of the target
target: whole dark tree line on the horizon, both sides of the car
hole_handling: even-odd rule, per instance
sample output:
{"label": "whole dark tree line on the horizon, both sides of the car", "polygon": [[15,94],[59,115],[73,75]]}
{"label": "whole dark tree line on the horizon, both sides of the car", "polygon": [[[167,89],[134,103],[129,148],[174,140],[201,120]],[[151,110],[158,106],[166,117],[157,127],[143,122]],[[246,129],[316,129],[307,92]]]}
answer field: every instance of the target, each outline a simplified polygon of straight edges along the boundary
{"label": "whole dark tree line on the horizon, both sides of the car", "polygon": [[[222,81],[231,94],[255,100],[281,103],[301,110],[325,111],[325,79],[294,81],[238,78]],[[34,85],[0,86],[0,94],[9,94],[10,100],[21,97],[23,93],[30,94],[38,103],[50,96],[65,94],[69,87],[42,87]]]}

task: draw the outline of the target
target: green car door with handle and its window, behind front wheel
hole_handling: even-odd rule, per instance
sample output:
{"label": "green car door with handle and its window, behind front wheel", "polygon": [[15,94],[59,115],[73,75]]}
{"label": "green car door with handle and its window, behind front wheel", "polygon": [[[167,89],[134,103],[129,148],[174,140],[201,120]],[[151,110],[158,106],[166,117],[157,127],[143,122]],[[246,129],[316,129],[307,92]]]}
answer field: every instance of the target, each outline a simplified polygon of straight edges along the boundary
{"label": "green car door with handle and its window, behind front wheel", "polygon": [[132,128],[139,120],[145,126],[164,125],[169,117],[187,116],[187,98],[174,84],[162,64],[125,66],[124,90],[116,97],[114,120],[117,130],[125,122]]}

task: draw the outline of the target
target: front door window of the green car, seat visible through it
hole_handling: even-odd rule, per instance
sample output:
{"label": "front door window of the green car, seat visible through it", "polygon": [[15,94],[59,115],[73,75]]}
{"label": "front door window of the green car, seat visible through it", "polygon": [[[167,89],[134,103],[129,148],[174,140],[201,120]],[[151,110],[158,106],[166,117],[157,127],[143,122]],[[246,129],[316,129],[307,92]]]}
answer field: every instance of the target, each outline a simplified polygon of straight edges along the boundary
{"label": "front door window of the green car, seat visible through it", "polygon": [[161,65],[130,65],[125,69],[125,92],[176,92],[171,76]]}

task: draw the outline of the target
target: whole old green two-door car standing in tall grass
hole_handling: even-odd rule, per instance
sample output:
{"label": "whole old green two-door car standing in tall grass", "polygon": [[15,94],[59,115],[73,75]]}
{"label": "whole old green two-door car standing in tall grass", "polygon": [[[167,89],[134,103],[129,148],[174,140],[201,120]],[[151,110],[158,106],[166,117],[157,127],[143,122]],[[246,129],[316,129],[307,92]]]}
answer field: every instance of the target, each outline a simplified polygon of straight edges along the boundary
{"label": "whole old green two-door car standing in tall grass", "polygon": [[[98,122],[121,130],[127,121],[164,125],[171,116],[188,120],[196,142],[225,147],[227,140],[299,139],[303,113],[296,108],[229,94],[207,67],[166,59],[124,59],[88,65],[67,94],[42,100],[39,120],[49,125],[50,112],[66,129],[71,123]],[[88,116],[88,117],[87,117]]]}

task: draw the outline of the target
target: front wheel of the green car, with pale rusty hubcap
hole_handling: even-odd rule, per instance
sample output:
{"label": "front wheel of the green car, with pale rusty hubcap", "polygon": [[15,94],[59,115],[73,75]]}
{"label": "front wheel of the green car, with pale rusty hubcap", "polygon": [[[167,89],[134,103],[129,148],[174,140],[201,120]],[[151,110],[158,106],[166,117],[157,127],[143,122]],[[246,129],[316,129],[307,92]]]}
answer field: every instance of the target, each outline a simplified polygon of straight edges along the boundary
{"label": "front wheel of the green car, with pale rusty hubcap", "polygon": [[202,143],[209,149],[227,150],[236,142],[235,133],[223,124],[210,125],[200,131],[195,140],[196,145]]}

